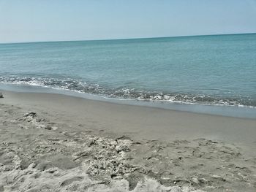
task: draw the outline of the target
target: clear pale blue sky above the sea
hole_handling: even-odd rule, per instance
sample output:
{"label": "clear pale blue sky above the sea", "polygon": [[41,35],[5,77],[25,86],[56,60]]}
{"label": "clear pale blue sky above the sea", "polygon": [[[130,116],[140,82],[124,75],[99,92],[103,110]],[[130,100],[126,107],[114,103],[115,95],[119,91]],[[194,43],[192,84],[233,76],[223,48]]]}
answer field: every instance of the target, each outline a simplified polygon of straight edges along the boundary
{"label": "clear pale blue sky above the sea", "polygon": [[0,42],[256,32],[256,0],[0,0]]}

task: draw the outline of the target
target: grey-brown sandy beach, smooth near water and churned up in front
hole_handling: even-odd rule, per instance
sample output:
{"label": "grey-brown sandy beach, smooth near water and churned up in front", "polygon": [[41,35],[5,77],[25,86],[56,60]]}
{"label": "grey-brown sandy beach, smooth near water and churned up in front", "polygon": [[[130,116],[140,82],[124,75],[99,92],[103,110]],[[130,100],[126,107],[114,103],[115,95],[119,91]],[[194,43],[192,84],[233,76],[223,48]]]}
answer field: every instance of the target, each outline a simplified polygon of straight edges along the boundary
{"label": "grey-brown sandy beach, smooth near water and churned up in front", "polygon": [[255,119],[0,92],[0,191],[256,190]]}

